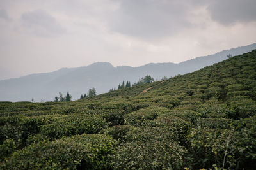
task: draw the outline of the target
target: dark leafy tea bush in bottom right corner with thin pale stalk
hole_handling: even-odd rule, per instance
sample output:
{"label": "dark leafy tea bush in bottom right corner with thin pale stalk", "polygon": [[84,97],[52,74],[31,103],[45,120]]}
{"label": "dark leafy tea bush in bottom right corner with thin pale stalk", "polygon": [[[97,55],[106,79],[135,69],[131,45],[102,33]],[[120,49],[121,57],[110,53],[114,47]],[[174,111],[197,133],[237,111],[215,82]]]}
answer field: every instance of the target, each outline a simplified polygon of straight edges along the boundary
{"label": "dark leafy tea bush in bottom right corner with thin pale stalk", "polygon": [[256,165],[256,140],[252,134],[246,129],[234,131],[233,127],[192,129],[188,135],[188,152],[192,159],[192,168],[224,165],[225,169],[253,169]]}

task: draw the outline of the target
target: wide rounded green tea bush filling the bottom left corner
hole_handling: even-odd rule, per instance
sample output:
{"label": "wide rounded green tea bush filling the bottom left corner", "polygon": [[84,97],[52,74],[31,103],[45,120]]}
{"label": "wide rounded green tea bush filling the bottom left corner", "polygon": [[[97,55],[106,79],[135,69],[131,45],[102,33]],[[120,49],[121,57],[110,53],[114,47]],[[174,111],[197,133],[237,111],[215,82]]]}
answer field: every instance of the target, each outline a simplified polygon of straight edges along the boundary
{"label": "wide rounded green tea bush filling the bottom left corner", "polygon": [[82,134],[42,141],[17,151],[0,169],[110,169],[116,141],[104,134]]}

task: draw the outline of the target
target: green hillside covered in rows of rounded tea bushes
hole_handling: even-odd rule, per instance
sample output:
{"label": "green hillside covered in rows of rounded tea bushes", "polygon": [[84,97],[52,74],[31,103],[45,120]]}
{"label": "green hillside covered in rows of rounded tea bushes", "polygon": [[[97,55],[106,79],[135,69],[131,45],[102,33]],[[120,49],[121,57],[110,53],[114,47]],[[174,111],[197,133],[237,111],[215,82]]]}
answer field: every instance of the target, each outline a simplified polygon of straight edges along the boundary
{"label": "green hillside covered in rows of rounded tea bushes", "polygon": [[0,169],[255,169],[256,50],[70,103],[0,103]]}

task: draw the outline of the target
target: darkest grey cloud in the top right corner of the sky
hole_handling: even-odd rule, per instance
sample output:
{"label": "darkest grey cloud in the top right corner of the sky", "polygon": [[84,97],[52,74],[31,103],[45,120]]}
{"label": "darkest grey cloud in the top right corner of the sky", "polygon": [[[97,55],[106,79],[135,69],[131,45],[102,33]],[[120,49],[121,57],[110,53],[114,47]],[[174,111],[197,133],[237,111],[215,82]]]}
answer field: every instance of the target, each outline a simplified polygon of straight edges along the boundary
{"label": "darkest grey cloud in the top right corner of the sky", "polygon": [[208,7],[212,20],[223,25],[256,20],[255,0],[214,0]]}

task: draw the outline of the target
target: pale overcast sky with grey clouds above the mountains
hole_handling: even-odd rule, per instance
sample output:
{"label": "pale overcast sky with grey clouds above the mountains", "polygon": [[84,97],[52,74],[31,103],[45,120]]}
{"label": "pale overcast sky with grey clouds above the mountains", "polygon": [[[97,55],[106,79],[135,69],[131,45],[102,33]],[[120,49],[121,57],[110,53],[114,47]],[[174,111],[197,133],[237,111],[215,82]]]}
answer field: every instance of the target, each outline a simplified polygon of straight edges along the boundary
{"label": "pale overcast sky with grey clouds above the mountains", "polygon": [[255,0],[0,0],[0,80],[179,63],[256,42]]}

